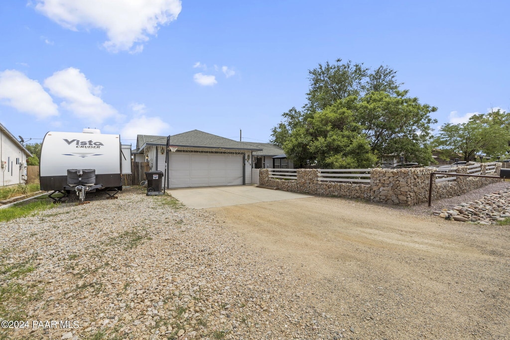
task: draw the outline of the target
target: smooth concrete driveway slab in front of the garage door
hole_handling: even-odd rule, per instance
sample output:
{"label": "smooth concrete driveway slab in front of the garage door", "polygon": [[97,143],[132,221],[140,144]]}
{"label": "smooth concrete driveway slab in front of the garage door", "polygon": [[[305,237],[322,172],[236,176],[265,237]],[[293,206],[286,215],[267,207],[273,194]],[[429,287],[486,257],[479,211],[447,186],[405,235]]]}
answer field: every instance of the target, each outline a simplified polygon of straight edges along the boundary
{"label": "smooth concrete driveway slab in front of the garage door", "polygon": [[255,186],[183,188],[167,192],[186,206],[197,209],[310,197]]}

